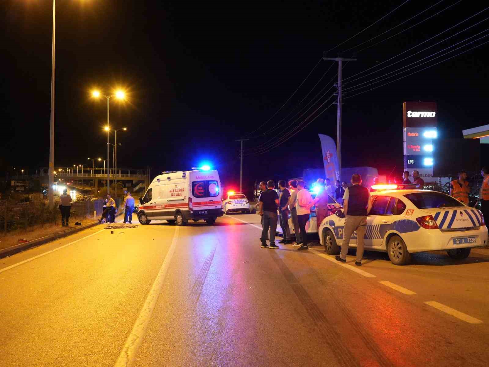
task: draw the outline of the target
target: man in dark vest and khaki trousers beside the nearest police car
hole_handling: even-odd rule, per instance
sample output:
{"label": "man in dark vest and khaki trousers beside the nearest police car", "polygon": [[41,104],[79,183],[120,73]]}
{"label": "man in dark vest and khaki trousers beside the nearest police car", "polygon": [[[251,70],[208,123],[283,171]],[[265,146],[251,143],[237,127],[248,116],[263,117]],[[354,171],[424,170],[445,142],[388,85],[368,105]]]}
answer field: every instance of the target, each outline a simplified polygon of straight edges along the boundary
{"label": "man in dark vest and khaki trousers beside the nearest police car", "polygon": [[363,247],[365,245],[365,229],[367,227],[367,214],[372,209],[372,200],[368,188],[361,186],[362,178],[358,174],[352,176],[353,186],[348,187],[343,195],[343,208],[345,214],[345,228],[343,229],[343,241],[341,254],[336,255],[338,261],[346,262],[350,238],[356,231],[356,261],[355,265],[362,264]]}

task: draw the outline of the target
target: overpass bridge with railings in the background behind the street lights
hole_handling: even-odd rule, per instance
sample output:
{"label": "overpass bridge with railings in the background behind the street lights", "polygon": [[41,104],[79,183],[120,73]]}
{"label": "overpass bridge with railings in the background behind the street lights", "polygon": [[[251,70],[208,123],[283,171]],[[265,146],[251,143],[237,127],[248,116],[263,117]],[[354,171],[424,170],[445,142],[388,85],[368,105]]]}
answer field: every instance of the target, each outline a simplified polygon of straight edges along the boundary
{"label": "overpass bridge with railings in the background behind the street lights", "polygon": [[[49,184],[49,175],[47,167],[36,169],[36,173],[31,170],[29,173],[10,176],[9,180],[19,181],[39,181],[40,184]],[[92,167],[59,167],[55,169],[54,181],[75,182],[87,184],[93,187],[96,194],[99,187],[104,187],[107,183],[107,170],[105,168]],[[141,168],[117,168],[109,169],[109,180],[112,184],[114,181],[123,182],[127,186],[137,189],[146,189],[149,184],[149,170]],[[136,189],[136,190],[137,190]]]}

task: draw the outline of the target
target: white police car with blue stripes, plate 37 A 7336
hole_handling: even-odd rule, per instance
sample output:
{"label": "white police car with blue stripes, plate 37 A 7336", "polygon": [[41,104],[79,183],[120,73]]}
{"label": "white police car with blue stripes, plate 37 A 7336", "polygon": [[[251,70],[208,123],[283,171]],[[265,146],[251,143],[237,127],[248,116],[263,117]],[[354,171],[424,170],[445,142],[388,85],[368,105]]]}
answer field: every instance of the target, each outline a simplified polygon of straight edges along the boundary
{"label": "white police car with blue stripes, plate 37 A 7336", "polygon": [[[410,254],[446,251],[465,259],[472,247],[485,246],[488,229],[482,213],[438,191],[421,185],[376,185],[367,216],[365,250],[387,252],[395,265],[405,265]],[[338,254],[343,243],[345,218],[337,211],[324,219],[319,240],[329,254]],[[349,246],[356,247],[356,232]]]}

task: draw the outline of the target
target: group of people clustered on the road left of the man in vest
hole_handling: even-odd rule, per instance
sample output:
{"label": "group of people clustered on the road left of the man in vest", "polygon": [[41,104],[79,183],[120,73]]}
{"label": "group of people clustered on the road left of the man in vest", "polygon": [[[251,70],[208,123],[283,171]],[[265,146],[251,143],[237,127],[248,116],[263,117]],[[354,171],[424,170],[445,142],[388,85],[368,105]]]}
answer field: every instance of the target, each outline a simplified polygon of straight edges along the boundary
{"label": "group of people clustered on the road left of the man in vest", "polygon": [[[315,206],[317,223],[321,223],[328,213],[328,197],[334,197],[340,203],[348,189],[346,182],[343,185],[336,181],[333,188],[330,179],[318,179],[316,186],[320,188],[318,194],[312,199],[309,190],[304,188],[303,180],[291,180],[288,187],[285,180],[278,183],[278,192],[275,191],[275,183],[268,181],[260,183],[261,194],[258,198],[257,209],[262,216],[262,236],[260,237],[261,247],[278,249],[275,243],[275,231],[277,223],[280,223],[284,238],[279,243],[292,244],[298,250],[308,250],[309,242],[307,238],[306,225],[311,215],[311,207]],[[278,213],[277,213],[278,210]],[[295,233],[295,242],[289,228],[289,215]],[[269,232],[269,234],[268,234]],[[267,245],[269,241],[269,245]]]}

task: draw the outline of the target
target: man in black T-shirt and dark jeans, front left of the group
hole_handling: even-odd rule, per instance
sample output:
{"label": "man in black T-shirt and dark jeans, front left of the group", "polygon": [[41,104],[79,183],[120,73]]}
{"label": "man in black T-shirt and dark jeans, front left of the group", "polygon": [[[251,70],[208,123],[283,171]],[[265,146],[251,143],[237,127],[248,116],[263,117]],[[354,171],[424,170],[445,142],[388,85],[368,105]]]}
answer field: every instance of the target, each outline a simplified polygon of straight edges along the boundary
{"label": "man in black T-shirt and dark jeans, front left of the group", "polygon": [[[275,183],[267,182],[268,189],[260,194],[260,214],[263,215],[263,230],[262,230],[262,249],[279,249],[275,244],[275,231],[277,229],[277,208],[279,206],[279,198],[274,190]],[[270,229],[270,245],[267,246],[267,241],[263,238],[267,237],[268,229]]]}

